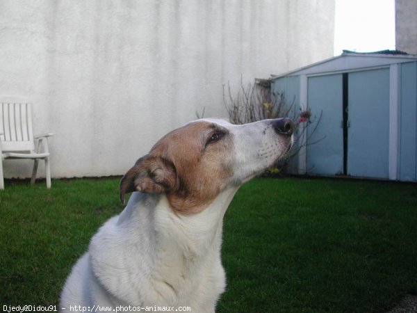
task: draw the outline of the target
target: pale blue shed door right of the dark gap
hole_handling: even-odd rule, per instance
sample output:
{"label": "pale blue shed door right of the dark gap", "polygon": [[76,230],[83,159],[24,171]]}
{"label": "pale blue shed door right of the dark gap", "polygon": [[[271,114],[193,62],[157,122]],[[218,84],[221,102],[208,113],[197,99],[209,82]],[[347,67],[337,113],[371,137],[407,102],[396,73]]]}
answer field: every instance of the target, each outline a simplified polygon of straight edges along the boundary
{"label": "pale blue shed door right of the dark gap", "polygon": [[347,174],[388,179],[389,69],[349,73],[348,86]]}

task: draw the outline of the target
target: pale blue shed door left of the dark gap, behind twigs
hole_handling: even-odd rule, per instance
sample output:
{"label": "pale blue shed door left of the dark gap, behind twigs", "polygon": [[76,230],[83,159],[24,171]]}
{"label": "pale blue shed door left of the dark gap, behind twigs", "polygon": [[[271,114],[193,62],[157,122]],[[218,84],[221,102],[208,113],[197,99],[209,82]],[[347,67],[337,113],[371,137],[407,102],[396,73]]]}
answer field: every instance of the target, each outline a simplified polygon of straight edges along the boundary
{"label": "pale blue shed door left of the dark gap, behind twigs", "polygon": [[[307,128],[306,171],[309,174],[343,173],[342,74],[309,77],[307,102],[312,117],[320,123]],[[318,141],[317,143],[315,143]]]}

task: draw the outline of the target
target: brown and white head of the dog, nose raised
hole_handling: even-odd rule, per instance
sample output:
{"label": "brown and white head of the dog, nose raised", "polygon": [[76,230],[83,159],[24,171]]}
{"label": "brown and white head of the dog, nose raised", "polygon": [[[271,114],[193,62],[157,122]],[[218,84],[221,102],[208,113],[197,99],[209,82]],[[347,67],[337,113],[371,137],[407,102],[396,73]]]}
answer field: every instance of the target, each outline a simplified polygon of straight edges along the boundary
{"label": "brown and white head of the dog, nose raised", "polygon": [[120,182],[125,193],[165,193],[172,209],[201,211],[227,186],[243,182],[275,164],[291,147],[291,120],[232,125],[202,119],[163,136],[136,161]]}

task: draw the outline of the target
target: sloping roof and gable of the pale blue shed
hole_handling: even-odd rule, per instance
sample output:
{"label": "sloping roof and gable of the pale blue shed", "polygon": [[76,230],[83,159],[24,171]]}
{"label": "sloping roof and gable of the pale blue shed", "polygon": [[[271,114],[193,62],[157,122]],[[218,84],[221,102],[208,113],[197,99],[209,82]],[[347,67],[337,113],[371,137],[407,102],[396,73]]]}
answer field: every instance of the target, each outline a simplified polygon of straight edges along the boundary
{"label": "sloping roof and gable of the pale blue shed", "polygon": [[398,50],[383,50],[375,52],[354,52],[343,50],[340,56],[300,67],[297,70],[279,75],[271,75],[270,79],[303,74],[325,74],[329,72],[350,72],[372,67],[384,67],[391,64],[417,61],[417,55],[410,55]]}

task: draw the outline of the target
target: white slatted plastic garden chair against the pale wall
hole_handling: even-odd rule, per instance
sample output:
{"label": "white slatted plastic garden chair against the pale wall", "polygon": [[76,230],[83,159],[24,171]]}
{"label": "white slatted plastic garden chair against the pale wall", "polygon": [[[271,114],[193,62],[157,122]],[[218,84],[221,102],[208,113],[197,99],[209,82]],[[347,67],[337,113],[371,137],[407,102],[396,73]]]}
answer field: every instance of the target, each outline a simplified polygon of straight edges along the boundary
{"label": "white slatted plastic garden chair against the pale wall", "polygon": [[0,189],[4,189],[3,159],[33,159],[31,184],[35,184],[39,160],[45,161],[47,188],[51,188],[48,137],[33,137],[32,107],[22,97],[0,96]]}

